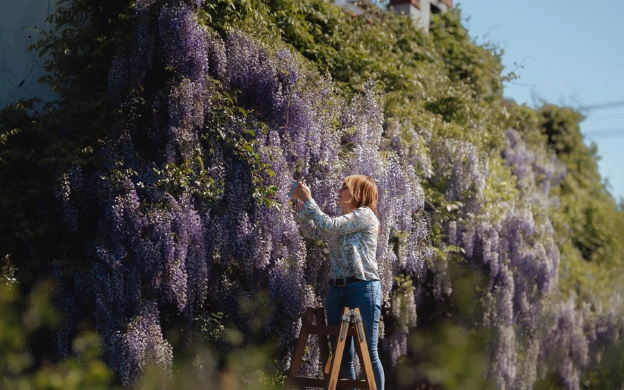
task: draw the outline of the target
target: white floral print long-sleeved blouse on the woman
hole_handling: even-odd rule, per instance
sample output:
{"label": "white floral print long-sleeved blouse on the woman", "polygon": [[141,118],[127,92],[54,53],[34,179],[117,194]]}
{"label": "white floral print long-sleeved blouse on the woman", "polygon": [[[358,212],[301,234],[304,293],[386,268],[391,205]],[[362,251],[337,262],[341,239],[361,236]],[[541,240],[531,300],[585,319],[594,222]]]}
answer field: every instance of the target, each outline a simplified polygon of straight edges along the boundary
{"label": "white floral print long-sleeved blouse on the woman", "polygon": [[360,207],[331,218],[309,199],[295,214],[295,221],[305,237],[327,241],[330,278],[379,280],[375,258],[379,220],[371,209]]}

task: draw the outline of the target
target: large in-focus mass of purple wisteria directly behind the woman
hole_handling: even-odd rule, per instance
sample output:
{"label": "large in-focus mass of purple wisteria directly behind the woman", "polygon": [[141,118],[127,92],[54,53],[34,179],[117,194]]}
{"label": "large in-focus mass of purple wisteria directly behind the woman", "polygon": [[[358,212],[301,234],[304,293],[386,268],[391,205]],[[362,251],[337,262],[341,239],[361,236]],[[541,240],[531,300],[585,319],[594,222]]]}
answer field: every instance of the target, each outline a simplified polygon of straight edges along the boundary
{"label": "large in-focus mass of purple wisteria directly behind the woman", "polygon": [[[194,1],[134,6],[133,35],[110,69],[115,114],[101,166],[60,179],[68,223],[94,231],[88,269],[73,285],[58,276],[63,294],[91,302],[105,361],[126,387],[148,365],[171,371],[162,321],[172,313],[187,341],[193,319],[209,312],[224,312],[245,344],[278,335],[286,367],[329,272],[323,245],[304,242],[293,220],[291,181],[304,179],[337,215],[343,177],[376,180],[387,299],[397,264],[418,273],[430,255],[422,189],[395,152],[380,151],[383,103],[372,86],[346,103],[286,48],[239,31],[220,39]],[[407,239],[397,263],[390,240],[399,232]],[[270,308],[260,333],[241,311],[245,299]],[[308,361],[304,371],[318,375],[317,346]]]}

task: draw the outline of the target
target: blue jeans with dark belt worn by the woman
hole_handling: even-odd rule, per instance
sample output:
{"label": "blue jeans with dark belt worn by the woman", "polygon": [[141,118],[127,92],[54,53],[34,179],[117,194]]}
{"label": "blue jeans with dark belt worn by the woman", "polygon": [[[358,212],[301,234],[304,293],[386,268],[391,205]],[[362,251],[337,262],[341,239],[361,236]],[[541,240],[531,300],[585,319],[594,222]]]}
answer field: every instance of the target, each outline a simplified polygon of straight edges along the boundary
{"label": "blue jeans with dark belt worn by the woman", "polygon": [[[343,308],[359,308],[362,314],[368,354],[373,368],[373,375],[378,390],[383,390],[384,375],[377,342],[379,339],[379,318],[381,317],[381,283],[379,281],[361,281],[345,287],[329,286],[326,299],[327,325],[340,325]],[[330,337],[332,351],[336,350],[336,339]],[[339,378],[356,379],[353,368],[355,348],[353,337],[347,337],[343,361],[340,363]]]}

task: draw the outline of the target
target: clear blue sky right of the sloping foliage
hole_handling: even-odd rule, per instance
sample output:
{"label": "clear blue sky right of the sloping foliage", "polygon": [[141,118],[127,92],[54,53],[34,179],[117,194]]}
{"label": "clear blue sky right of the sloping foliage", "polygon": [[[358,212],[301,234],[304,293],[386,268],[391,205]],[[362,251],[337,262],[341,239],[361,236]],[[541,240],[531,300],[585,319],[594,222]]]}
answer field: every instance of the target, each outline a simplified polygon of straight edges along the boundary
{"label": "clear blue sky right of the sloping foliage", "polygon": [[[505,50],[505,71],[523,62],[505,96],[587,107],[624,102],[624,1],[466,0],[456,4],[477,43]],[[598,168],[616,200],[624,198],[624,103],[583,111],[586,143],[598,145]],[[592,134],[593,133],[593,134]]]}

